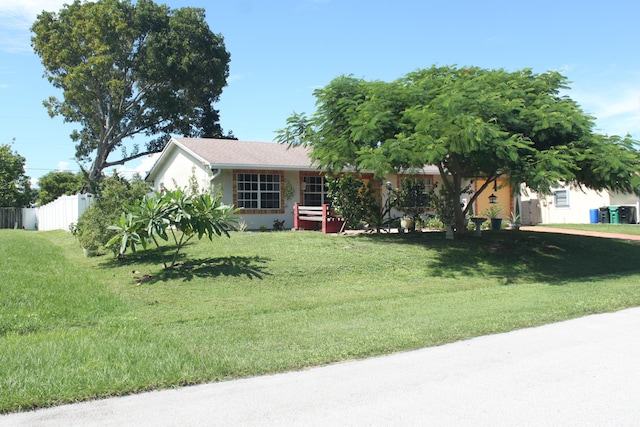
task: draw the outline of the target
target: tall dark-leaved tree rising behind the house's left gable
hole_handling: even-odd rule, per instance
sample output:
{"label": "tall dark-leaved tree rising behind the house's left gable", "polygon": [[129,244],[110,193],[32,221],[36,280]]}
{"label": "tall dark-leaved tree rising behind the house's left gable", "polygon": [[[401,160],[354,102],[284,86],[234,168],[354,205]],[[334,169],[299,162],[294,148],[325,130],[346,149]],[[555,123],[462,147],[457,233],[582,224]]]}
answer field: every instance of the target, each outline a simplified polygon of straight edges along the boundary
{"label": "tall dark-leaved tree rising behind the house's left gable", "polygon": [[[225,136],[213,104],[230,55],[203,9],[75,0],[42,12],[32,31],[45,76],[63,92],[45,106],[52,117],[80,124],[71,138],[77,159],[91,164],[91,182],[105,168],[161,151],[171,134]],[[136,135],[147,138],[143,147],[130,141]]]}

